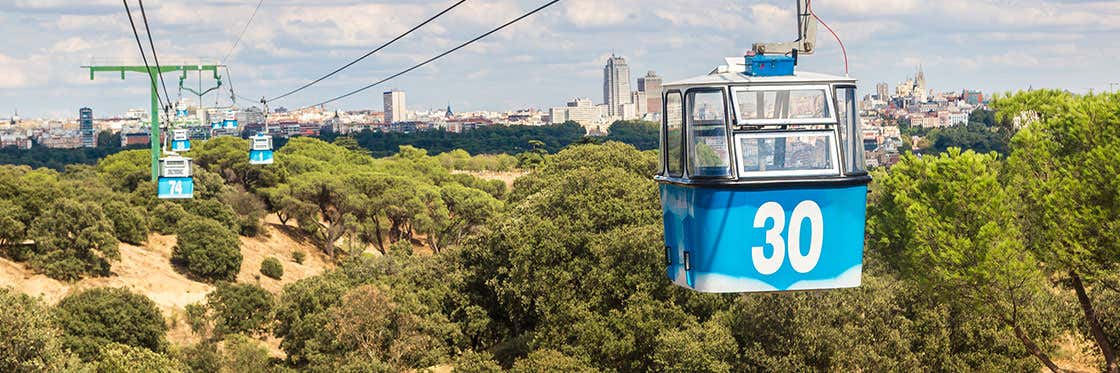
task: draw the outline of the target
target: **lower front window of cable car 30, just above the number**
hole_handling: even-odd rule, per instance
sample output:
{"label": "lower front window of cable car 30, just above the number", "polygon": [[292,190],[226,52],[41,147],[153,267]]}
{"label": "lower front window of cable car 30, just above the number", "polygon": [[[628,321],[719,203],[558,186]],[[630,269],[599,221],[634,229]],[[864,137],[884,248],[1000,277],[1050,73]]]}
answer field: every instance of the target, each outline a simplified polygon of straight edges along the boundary
{"label": "lower front window of cable car 30, just above the number", "polygon": [[838,175],[832,131],[756,132],[735,136],[740,177]]}

